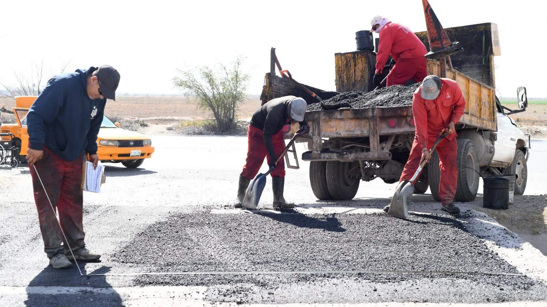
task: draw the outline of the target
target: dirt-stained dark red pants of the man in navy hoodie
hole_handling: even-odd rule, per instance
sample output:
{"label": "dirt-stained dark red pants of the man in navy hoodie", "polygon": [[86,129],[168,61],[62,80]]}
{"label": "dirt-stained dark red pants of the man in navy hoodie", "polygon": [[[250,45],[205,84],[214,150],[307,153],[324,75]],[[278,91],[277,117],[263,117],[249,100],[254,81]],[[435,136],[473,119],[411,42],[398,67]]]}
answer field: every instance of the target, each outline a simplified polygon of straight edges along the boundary
{"label": "dirt-stained dark red pants of the man in navy hoodie", "polygon": [[[35,164],[38,174],[34,167],[30,166],[34,200],[38,209],[40,231],[44,239],[44,251],[49,258],[63,252],[61,242],[64,242],[63,246],[67,250],[68,246],[73,250],[85,246],[82,222],[84,200],[81,186],[83,162],[83,156],[75,161],[64,161],[44,147],[44,156]],[[65,241],[59,229],[55,211],[51,210],[48,196],[53,208],[59,211],[61,227],[68,242]]]}

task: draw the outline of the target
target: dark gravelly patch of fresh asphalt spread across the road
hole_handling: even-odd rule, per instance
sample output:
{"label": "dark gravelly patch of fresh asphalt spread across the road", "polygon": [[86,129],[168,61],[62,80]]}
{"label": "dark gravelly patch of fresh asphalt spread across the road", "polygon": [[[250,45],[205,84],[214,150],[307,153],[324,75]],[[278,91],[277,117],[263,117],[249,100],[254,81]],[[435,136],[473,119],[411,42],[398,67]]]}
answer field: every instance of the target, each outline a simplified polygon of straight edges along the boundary
{"label": "dark gravelly patch of fresh asphalt spread across the road", "polygon": [[[465,216],[456,219],[438,214],[412,214],[408,220],[400,220],[383,213],[307,215],[295,210],[257,210],[211,214],[207,209],[173,214],[154,223],[115,253],[125,265],[158,273],[287,272],[142,275],[133,280],[139,286],[208,286],[208,299],[226,302],[382,302],[389,298],[478,303],[547,299],[547,287],[527,276],[290,273],[397,270],[519,274],[483,240],[469,233],[464,220]],[[322,292],[326,288],[328,293]],[[315,294],[310,296],[310,291]],[[320,298],[323,295],[327,297]],[[280,301],[280,297],[286,299]]]}

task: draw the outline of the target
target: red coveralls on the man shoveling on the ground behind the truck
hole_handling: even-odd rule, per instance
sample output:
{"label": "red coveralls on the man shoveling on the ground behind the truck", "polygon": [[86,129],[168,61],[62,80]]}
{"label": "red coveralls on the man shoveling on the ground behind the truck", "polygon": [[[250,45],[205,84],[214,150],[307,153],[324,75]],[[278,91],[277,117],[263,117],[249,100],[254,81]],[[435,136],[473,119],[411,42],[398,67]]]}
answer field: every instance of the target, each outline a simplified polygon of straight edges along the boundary
{"label": "red coveralls on the man shoveling on the ground behind the truck", "polygon": [[[421,96],[422,87],[418,87],[412,98],[412,113],[416,123],[416,136],[408,162],[405,164],[399,182],[410,180],[420,166],[422,149],[430,149],[437,140],[439,132],[447,128],[450,122],[458,123],[465,110],[465,99],[456,81],[441,78],[441,90],[435,100],[425,100]],[[458,179],[456,158],[458,143],[456,132],[449,134],[437,145],[441,178],[439,197],[442,205],[448,205],[454,199]]]}

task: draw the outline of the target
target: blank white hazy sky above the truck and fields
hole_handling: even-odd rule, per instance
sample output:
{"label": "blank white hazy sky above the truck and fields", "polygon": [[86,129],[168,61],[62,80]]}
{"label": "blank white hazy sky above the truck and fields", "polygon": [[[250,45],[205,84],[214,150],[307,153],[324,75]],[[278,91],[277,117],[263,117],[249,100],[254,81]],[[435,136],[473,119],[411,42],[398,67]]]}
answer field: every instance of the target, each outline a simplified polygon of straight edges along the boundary
{"label": "blank white hazy sky above the truck and fields", "polygon": [[[502,55],[496,90],[547,97],[543,76],[545,4],[539,1],[430,0],[444,27],[494,22]],[[0,81],[43,61],[54,74],[109,64],[118,95],[176,94],[177,68],[247,57],[248,93],[258,95],[275,47],[296,80],[335,90],[334,54],[356,50],[355,32],[374,15],[425,31],[422,1],[18,1],[0,3]],[[377,34],[375,34],[377,36]],[[533,65],[533,66],[532,66]]]}

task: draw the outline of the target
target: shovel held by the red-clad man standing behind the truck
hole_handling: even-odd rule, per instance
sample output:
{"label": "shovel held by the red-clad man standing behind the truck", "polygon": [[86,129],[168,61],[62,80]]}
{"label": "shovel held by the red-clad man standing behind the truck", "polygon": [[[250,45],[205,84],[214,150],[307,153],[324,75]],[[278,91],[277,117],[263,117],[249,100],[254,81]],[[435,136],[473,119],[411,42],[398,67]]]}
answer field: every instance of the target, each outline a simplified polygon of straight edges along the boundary
{"label": "shovel held by the red-clad man standing behind the truck", "polygon": [[426,164],[429,162],[429,159],[431,158],[431,155],[433,154],[433,151],[435,150],[435,147],[439,144],[439,142],[446,138],[446,136],[449,135],[448,129],[443,129],[439,133],[439,137],[437,137],[437,140],[433,144],[433,147],[429,150],[427,154],[427,159],[424,160],[420,167],[416,170],[416,173],[414,173],[414,176],[410,180],[403,180],[401,183],[397,186],[395,189],[395,194],[393,194],[393,198],[391,199],[391,204],[389,204],[389,211],[387,211],[388,214],[393,215],[395,217],[398,217],[399,219],[406,219],[409,217],[409,198],[414,194],[414,182],[420,176],[420,173],[422,172],[422,169]]}

